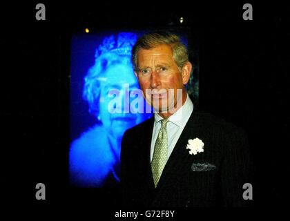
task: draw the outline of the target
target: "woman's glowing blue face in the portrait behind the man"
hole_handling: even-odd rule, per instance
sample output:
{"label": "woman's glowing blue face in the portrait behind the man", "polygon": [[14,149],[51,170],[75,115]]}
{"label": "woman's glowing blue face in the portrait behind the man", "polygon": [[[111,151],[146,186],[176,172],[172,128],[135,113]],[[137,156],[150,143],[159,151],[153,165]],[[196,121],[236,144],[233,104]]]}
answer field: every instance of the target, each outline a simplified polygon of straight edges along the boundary
{"label": "woman's glowing blue face in the portrait behind the man", "polygon": [[105,70],[104,81],[101,81],[99,118],[115,138],[122,137],[128,128],[142,122],[142,115],[130,110],[131,101],[135,99],[135,96],[130,97],[130,93],[138,88],[133,68],[128,64],[115,64]]}

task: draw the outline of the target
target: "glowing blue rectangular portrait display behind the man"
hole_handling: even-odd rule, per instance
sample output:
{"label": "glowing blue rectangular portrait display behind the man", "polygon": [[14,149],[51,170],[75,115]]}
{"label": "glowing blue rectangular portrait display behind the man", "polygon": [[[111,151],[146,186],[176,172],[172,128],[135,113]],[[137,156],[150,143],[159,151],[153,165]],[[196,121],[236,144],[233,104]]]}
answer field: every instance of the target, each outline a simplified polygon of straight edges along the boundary
{"label": "glowing blue rectangular portrait display behind the man", "polygon": [[72,36],[69,173],[73,186],[118,184],[124,132],[153,115],[131,62],[132,47],[143,33]]}

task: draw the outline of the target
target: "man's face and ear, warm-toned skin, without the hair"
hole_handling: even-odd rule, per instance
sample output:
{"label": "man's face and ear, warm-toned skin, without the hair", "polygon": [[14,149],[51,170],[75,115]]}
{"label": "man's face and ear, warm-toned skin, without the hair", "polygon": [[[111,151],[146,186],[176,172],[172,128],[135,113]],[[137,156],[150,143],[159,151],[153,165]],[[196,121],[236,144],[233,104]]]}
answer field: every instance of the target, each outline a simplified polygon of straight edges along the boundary
{"label": "man's face and ear, warm-toned skin, without the hair", "polygon": [[[139,79],[140,88],[146,102],[155,111],[170,111],[176,108],[177,101],[186,96],[184,85],[189,81],[191,64],[188,62],[185,69],[179,69],[170,46],[160,45],[149,50],[139,50],[137,66],[139,71],[135,75]],[[181,93],[177,93],[177,90]]]}

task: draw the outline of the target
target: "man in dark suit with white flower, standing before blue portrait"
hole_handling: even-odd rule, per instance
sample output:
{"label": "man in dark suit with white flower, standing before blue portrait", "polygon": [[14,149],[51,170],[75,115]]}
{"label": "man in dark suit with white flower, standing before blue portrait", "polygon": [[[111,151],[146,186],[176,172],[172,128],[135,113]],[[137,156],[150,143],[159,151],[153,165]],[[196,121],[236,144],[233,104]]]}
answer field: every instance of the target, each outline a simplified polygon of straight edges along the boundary
{"label": "man in dark suit with white flower, standing before blue portrait", "polygon": [[192,65],[180,39],[168,32],[146,34],[132,56],[155,115],[124,134],[123,205],[247,205],[247,139],[240,128],[194,110],[185,88]]}

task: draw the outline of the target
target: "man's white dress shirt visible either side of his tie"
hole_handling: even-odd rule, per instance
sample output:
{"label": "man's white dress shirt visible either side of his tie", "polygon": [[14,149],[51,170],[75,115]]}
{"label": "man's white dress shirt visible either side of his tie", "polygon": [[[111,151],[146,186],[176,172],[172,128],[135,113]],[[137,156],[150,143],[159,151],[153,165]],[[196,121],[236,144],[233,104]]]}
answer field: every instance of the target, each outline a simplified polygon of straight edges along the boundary
{"label": "man's white dress shirt visible either side of his tie", "polygon": [[[167,137],[168,137],[168,153],[167,153],[168,158],[170,157],[173,151],[173,148],[175,147],[175,144],[177,143],[177,140],[180,138],[180,135],[186,123],[188,122],[189,117],[191,117],[192,112],[193,112],[193,102],[191,102],[189,95],[187,95],[184,105],[168,118],[169,121],[166,124]],[[154,127],[153,127],[153,133],[152,133],[151,153],[150,153],[151,161],[152,161],[152,157],[154,153],[155,142],[157,140],[157,136],[161,128],[160,121],[163,119],[157,113],[154,114],[154,118],[155,120],[154,120]]]}

